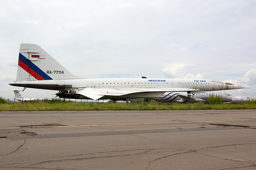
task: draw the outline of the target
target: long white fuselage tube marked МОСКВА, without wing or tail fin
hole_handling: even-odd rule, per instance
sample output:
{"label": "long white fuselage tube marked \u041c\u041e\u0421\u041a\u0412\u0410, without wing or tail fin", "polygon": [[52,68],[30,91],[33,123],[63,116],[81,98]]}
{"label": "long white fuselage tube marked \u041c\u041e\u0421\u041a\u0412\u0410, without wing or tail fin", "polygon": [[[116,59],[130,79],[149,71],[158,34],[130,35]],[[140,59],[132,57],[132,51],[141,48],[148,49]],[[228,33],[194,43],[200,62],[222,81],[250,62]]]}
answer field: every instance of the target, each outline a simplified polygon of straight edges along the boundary
{"label": "long white fuselage tube marked \u041c\u041e\u0421\u041a\u0412\u0410, without wing or tail fin", "polygon": [[[239,85],[227,84],[213,80],[195,79],[151,79],[151,78],[113,78],[113,79],[68,79],[16,81],[13,86],[48,90],[72,90],[79,88],[184,88],[201,91],[216,91],[241,88]],[[182,90],[181,90],[182,91]],[[188,90],[185,90],[188,91]]]}

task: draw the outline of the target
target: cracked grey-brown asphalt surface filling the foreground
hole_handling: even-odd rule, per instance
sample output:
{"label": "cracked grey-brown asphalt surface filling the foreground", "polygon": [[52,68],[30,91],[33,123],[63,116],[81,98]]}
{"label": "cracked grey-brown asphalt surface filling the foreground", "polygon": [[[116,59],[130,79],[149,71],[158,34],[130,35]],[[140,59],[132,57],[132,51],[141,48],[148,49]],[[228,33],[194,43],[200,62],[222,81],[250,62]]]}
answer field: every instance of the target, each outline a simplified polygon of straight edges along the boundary
{"label": "cracked grey-brown asphalt surface filling the foreground", "polygon": [[0,169],[256,169],[256,110],[0,112]]}

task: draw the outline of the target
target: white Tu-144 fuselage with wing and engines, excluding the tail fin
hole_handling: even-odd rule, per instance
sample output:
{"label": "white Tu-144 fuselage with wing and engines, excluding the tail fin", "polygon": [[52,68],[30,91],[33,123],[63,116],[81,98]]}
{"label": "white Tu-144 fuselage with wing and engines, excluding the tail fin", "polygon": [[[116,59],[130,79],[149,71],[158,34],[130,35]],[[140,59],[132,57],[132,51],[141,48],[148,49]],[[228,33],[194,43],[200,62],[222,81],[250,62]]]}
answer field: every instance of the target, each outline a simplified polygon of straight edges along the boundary
{"label": "white Tu-144 fuselage with wing and engines, excluding the tail fin", "polygon": [[58,90],[60,98],[117,99],[133,101],[138,98],[159,97],[164,92],[200,93],[205,91],[242,88],[239,85],[213,80],[114,78],[67,79],[12,82],[10,85],[37,89]]}

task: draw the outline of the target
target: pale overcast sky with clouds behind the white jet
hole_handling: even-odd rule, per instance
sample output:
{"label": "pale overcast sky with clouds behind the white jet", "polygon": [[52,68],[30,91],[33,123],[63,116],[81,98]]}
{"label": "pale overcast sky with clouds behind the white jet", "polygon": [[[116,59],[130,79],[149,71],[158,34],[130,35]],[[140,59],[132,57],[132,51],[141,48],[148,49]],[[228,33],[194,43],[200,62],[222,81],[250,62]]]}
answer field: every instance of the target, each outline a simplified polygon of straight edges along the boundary
{"label": "pale overcast sky with clouds behind the white jet", "polygon": [[[84,78],[197,78],[256,98],[256,1],[0,0],[0,96],[14,98],[21,43]],[[56,91],[26,89],[26,97]]]}

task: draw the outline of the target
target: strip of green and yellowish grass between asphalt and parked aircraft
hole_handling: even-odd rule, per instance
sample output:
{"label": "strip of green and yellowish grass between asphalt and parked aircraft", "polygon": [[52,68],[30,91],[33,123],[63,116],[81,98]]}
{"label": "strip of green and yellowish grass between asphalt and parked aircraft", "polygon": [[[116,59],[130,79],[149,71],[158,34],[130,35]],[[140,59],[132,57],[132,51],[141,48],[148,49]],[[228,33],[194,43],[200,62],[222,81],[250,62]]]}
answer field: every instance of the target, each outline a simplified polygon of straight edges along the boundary
{"label": "strip of green and yellowish grass between asphalt and parked aircraft", "polygon": [[255,103],[246,104],[204,104],[204,103],[159,103],[132,102],[127,103],[76,103],[60,101],[33,101],[25,103],[3,103],[0,111],[40,111],[40,110],[203,110],[203,109],[256,109]]}

